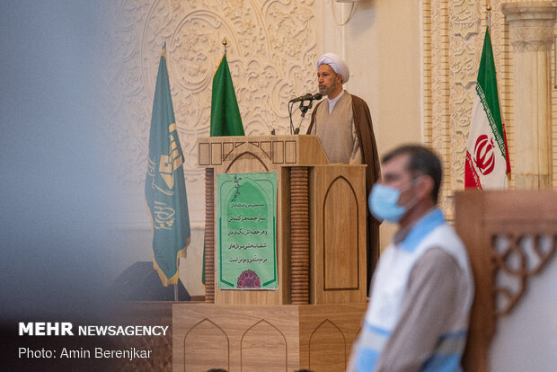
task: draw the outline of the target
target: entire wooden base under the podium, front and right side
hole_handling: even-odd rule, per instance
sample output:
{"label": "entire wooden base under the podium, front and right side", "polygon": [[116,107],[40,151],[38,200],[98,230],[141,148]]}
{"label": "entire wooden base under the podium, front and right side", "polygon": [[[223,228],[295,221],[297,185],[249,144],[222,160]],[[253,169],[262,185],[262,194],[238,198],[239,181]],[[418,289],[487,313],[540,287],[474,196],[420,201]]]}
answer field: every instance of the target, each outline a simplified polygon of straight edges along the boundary
{"label": "entire wooden base under the podium, front and right side", "polygon": [[344,371],[366,308],[175,304],[172,370]]}

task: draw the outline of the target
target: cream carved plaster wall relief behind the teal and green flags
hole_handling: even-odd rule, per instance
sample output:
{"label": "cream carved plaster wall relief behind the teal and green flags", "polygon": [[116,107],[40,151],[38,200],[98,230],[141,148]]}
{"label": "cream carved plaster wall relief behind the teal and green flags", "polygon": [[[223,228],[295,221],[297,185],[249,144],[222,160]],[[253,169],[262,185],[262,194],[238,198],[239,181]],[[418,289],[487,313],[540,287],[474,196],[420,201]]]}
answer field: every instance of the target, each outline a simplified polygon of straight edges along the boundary
{"label": "cream carved plaster wall relief behind the teal and green flags", "polygon": [[[227,60],[248,135],[287,133],[287,102],[314,85],[314,0],[120,1],[111,84],[127,159],[122,177],[145,178],[155,79],[166,42],[172,102],[188,182],[203,179],[195,140],[208,136],[212,77],[228,40]],[[116,97],[115,97],[116,98]],[[122,169],[124,171],[124,169]]]}

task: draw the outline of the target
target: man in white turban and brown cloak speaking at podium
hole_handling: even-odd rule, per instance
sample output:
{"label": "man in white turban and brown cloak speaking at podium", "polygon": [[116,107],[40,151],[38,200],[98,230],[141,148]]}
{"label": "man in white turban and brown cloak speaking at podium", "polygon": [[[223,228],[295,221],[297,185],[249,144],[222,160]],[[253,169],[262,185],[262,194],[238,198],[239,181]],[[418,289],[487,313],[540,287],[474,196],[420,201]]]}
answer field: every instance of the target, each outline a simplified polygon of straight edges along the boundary
{"label": "man in white turban and brown cloak speaking at podium", "polygon": [[[308,134],[319,137],[331,163],[367,164],[366,190],[380,174],[376,138],[367,103],[343,90],[350,77],[346,63],[334,53],[317,60],[319,92],[327,100],[319,102],[312,112]],[[367,289],[379,254],[379,222],[367,217]]]}

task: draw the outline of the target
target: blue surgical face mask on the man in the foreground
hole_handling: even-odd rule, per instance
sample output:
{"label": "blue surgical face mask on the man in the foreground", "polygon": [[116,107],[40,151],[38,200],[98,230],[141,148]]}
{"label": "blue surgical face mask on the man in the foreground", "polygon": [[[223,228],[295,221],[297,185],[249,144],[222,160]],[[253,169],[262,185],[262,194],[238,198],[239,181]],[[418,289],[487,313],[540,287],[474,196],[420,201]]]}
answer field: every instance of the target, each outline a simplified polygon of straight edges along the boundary
{"label": "blue surgical face mask on the man in the foreground", "polygon": [[[416,179],[412,180],[409,187],[411,187],[415,181]],[[385,220],[395,224],[401,220],[402,216],[404,216],[409,208],[418,202],[418,200],[415,200],[411,201],[408,206],[399,206],[398,199],[400,197],[401,190],[382,185],[381,183],[376,183],[371,189],[369,199],[367,199],[369,211],[379,221]]]}

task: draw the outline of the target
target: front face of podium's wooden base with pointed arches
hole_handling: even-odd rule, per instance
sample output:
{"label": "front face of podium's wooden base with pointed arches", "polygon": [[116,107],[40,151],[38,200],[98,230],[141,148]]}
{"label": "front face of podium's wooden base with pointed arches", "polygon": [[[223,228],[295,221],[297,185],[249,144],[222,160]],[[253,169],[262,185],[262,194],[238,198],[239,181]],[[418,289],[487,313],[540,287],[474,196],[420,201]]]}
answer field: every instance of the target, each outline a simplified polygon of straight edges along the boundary
{"label": "front face of podium's wooden base with pointed arches", "polygon": [[[195,333],[191,344],[197,344],[199,367],[203,371],[223,365],[229,371],[273,370],[289,371],[297,368],[299,327],[296,306],[230,306],[230,305],[175,305],[172,309],[174,331],[173,369],[183,370],[184,362],[192,358],[184,350],[184,335],[190,334],[201,320],[214,324],[214,330]],[[213,334],[220,332],[220,340],[229,345],[223,350],[222,341],[215,345]],[[193,337],[193,336],[188,336]],[[269,349],[268,349],[269,348]],[[219,354],[220,353],[220,354]],[[185,358],[185,359],[184,359]],[[187,371],[190,369],[186,368]]]}

